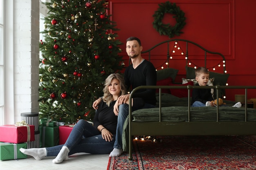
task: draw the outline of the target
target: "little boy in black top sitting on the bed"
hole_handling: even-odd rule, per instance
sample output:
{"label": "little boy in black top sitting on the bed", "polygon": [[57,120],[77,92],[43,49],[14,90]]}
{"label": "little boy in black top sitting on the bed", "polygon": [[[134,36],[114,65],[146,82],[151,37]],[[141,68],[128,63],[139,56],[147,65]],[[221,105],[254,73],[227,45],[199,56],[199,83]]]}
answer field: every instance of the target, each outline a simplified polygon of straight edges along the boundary
{"label": "little boy in black top sitting on the bed", "polygon": [[[205,67],[198,67],[195,70],[195,79],[198,84],[195,86],[208,86],[209,81],[209,71]],[[213,98],[211,95],[211,89],[199,89],[194,88],[192,91],[192,107],[202,107],[202,106],[214,106]],[[232,107],[240,108],[242,106],[241,102],[237,102]]]}

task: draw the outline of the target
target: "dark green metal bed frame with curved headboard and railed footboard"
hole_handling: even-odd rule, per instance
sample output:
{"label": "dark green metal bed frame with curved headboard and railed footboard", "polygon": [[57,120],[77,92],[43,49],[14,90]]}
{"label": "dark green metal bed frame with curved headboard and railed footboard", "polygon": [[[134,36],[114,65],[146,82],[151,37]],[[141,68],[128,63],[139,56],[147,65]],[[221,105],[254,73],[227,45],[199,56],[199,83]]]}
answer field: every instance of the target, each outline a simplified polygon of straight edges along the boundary
{"label": "dark green metal bed frame with curved headboard and railed footboard", "polygon": [[[161,42],[147,51],[142,51],[141,53],[148,53],[148,60],[150,61],[150,51],[155,47],[167,44],[167,61],[169,62],[170,52],[169,52],[169,42],[172,41],[183,41],[186,42],[186,52],[185,55],[188,58],[188,46],[189,44],[194,44],[198,46],[202,50],[204,50],[204,66],[206,66],[207,62],[207,53],[217,54],[222,57],[222,60],[225,62],[225,57],[221,53],[216,53],[204,49],[199,44],[183,39],[172,39]],[[188,65],[188,60],[187,63]],[[223,66],[223,73],[225,73],[225,66]],[[247,89],[256,89],[256,86],[139,86],[132,90],[130,93],[130,103],[132,99],[132,95],[139,89],[142,88],[154,88],[159,89],[159,121],[150,121],[150,122],[141,122],[141,121],[132,121],[132,106],[129,105],[129,122],[128,122],[128,130],[129,130],[129,160],[132,160],[132,140],[135,135],[256,135],[256,121],[247,121]],[[186,122],[165,122],[162,121],[162,113],[161,113],[161,93],[163,88],[185,88],[188,90],[188,96],[191,94],[192,88],[216,88],[217,98],[219,98],[219,90],[220,89],[245,89],[245,120],[244,121],[219,121],[219,107],[217,100],[216,107],[216,121],[190,121],[190,102],[191,99],[188,97],[188,121]]]}

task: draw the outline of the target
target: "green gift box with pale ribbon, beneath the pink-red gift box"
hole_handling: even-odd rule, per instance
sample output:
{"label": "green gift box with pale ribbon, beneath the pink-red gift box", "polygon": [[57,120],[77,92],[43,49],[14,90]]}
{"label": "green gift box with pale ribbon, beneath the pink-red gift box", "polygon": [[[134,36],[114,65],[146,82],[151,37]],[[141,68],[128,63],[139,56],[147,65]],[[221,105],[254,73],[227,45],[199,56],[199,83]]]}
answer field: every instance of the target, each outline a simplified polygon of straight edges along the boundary
{"label": "green gift box with pale ribbon, beneath the pink-red gift box", "polygon": [[9,142],[0,142],[0,160],[27,158],[27,155],[20,152],[20,148],[27,149],[27,143],[12,144]]}

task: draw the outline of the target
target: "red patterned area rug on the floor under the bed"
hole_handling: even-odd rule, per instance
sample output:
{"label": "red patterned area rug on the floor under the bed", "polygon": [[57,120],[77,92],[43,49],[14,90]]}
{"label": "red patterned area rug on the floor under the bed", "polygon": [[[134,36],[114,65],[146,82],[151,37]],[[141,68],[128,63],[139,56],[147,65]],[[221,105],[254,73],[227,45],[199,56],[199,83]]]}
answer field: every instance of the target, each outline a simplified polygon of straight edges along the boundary
{"label": "red patterned area rug on the floor under the bed", "polygon": [[256,136],[172,136],[133,140],[128,153],[110,157],[107,170],[256,170]]}

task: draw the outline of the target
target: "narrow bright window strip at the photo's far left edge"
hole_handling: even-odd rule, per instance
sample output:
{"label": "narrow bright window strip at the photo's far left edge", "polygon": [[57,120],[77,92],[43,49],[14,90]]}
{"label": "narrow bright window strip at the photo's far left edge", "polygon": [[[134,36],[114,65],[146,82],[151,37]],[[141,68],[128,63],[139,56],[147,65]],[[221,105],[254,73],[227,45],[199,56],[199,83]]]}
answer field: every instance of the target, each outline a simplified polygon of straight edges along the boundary
{"label": "narrow bright window strip at the photo's far left edge", "polygon": [[4,124],[4,24],[3,8],[4,0],[0,0],[0,125]]}

